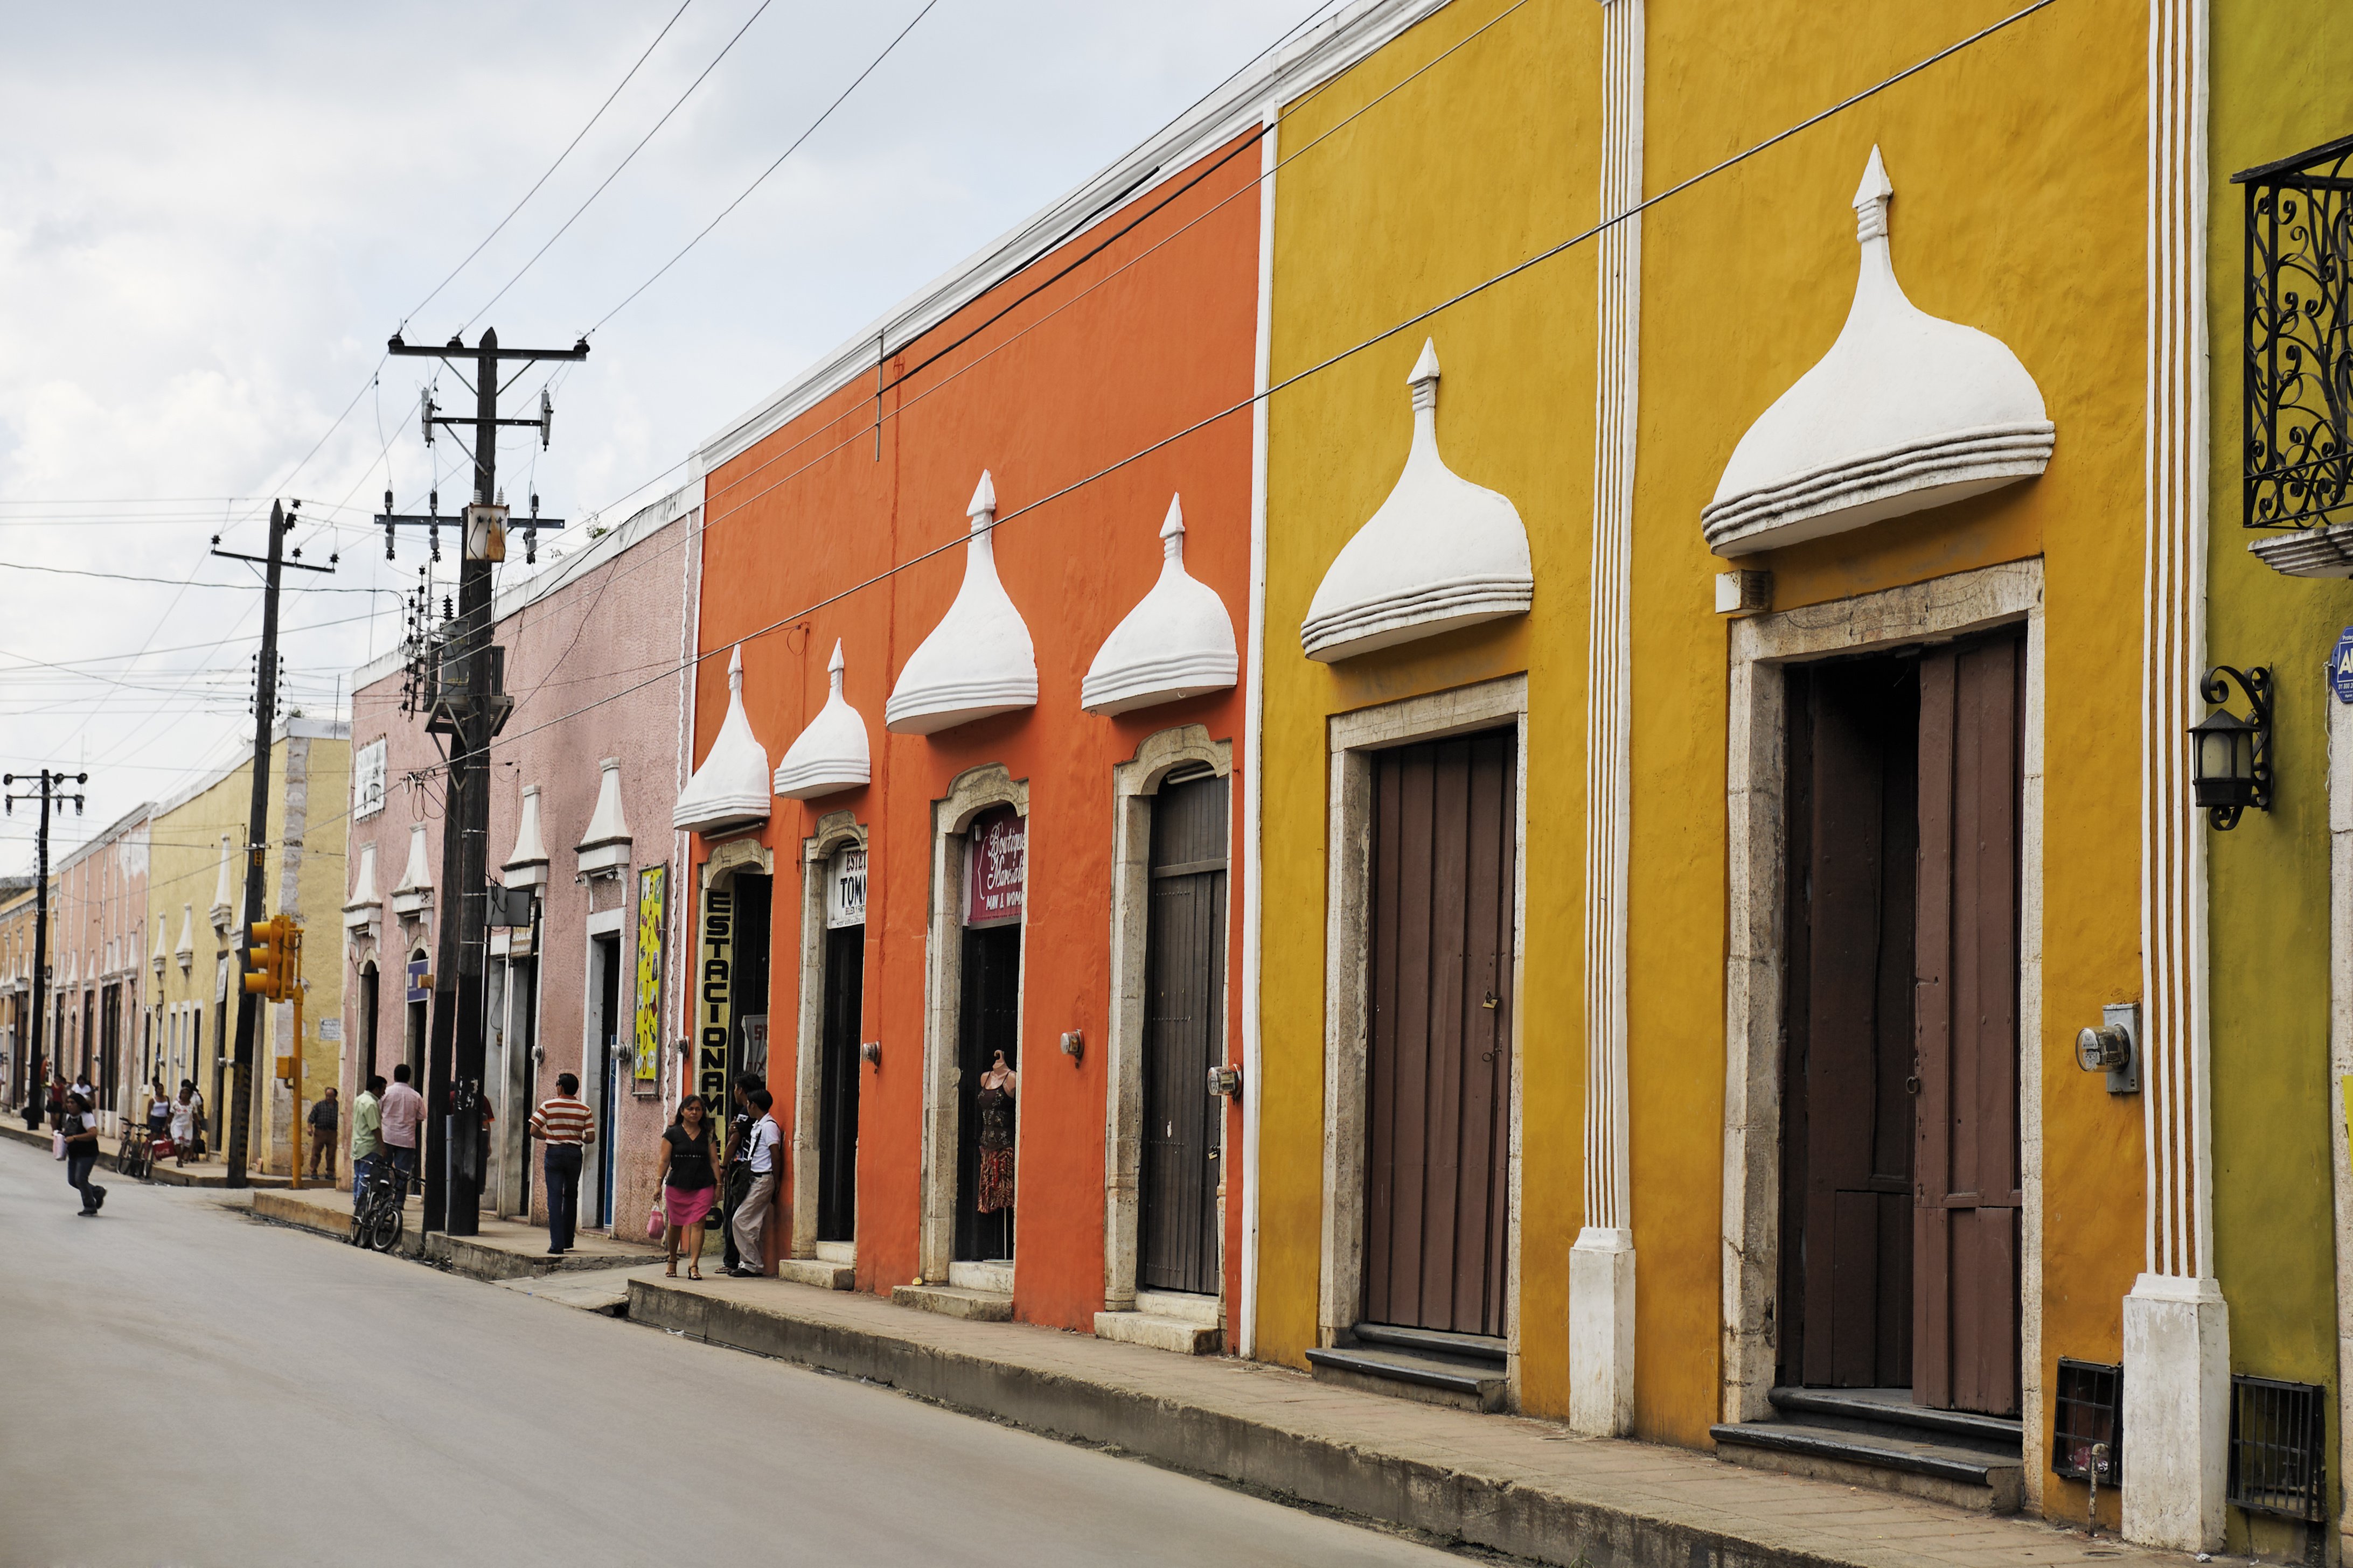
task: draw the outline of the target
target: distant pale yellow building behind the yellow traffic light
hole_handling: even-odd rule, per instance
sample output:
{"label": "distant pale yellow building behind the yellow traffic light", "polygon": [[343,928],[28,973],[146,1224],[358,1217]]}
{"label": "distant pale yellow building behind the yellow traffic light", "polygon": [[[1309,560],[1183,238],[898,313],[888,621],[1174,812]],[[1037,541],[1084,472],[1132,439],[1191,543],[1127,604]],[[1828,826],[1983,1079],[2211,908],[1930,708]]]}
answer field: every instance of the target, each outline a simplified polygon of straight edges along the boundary
{"label": "distant pale yellow building behind the yellow traffic light", "polygon": [[[153,1072],[176,1091],[205,1093],[207,1143],[228,1147],[228,1100],[238,1027],[238,940],[245,924],[292,914],[306,931],[301,1100],[275,1077],[292,1041],[294,1006],[264,1004],[268,1032],[254,1041],[249,1168],[285,1175],[289,1138],[311,1103],[336,1081],[341,1060],[344,837],[351,818],[351,726],[289,717],[271,738],[264,910],[245,912],[245,856],[252,818],[252,757],[221,766],[155,806],[148,872],[148,929],[155,952]],[[320,1030],[325,1025],[325,1034]],[[348,1133],[348,1121],[344,1121]],[[308,1159],[308,1128],[304,1157]],[[336,1159],[336,1171],[344,1171]]]}

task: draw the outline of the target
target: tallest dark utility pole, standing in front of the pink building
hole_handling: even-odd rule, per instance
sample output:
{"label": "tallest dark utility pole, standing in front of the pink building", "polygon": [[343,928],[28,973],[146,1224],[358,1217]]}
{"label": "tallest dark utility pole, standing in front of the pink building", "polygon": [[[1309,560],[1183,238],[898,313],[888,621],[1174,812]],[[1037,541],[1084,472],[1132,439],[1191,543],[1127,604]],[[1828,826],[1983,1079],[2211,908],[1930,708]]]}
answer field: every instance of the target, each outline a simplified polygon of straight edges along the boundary
{"label": "tallest dark utility pole, standing in front of the pink building", "polygon": [[[464,520],[464,564],[456,578],[456,623],[449,642],[438,654],[433,672],[433,719],[428,729],[449,736],[449,795],[442,806],[442,898],[456,900],[452,910],[435,910],[433,933],[433,1032],[426,1048],[426,1213],[424,1229],[447,1229],[454,1237],[471,1237],[480,1229],[482,1211],[482,997],[487,971],[487,903],[489,903],[489,741],[506,726],[513,703],[501,691],[492,635],[492,562],[506,559],[506,498],[499,491],[499,428],[527,425],[539,430],[546,447],[553,428],[548,395],[539,395],[539,418],[501,418],[499,393],[522,371],[544,360],[586,360],[588,339],[572,348],[499,348],[499,334],[485,329],[480,346],[466,348],[464,339],[449,339],[440,348],[400,341],[393,334],[386,350],[393,355],[440,360],[459,381],[473,371],[473,418],[445,418],[435,414],[426,397],[424,433],[433,440],[435,428],[473,428],[473,505]],[[513,374],[506,371],[513,367]],[[504,378],[501,378],[504,376]],[[433,529],[435,557],[440,557],[440,510],[416,517],[395,515],[386,491],[384,552],[393,552],[395,527]],[[532,515],[522,524],[529,550],[536,555],[536,529],[560,529],[555,517],[539,517],[539,496],[532,496]]]}

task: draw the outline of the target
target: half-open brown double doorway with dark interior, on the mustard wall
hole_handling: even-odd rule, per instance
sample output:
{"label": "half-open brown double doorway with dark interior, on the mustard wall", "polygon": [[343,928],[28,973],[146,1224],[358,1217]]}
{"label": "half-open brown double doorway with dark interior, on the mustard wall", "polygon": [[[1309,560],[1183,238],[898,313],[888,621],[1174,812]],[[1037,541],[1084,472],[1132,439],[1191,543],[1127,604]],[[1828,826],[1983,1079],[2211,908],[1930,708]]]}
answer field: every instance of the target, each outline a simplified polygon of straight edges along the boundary
{"label": "half-open brown double doorway with dark interior, on the mustard wall", "polygon": [[2019,1410],[2024,639],[1793,665],[1779,1382]]}

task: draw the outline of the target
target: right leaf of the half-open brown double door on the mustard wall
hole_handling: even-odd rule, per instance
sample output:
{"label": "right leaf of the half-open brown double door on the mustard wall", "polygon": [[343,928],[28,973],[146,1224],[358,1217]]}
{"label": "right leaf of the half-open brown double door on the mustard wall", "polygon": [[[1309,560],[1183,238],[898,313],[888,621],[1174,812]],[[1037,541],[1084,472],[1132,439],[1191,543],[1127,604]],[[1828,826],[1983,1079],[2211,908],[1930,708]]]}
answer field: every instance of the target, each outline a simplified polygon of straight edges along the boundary
{"label": "right leaf of the half-open brown double door on the mustard wall", "polygon": [[2019,1410],[2024,642],[1920,658],[1913,1399]]}

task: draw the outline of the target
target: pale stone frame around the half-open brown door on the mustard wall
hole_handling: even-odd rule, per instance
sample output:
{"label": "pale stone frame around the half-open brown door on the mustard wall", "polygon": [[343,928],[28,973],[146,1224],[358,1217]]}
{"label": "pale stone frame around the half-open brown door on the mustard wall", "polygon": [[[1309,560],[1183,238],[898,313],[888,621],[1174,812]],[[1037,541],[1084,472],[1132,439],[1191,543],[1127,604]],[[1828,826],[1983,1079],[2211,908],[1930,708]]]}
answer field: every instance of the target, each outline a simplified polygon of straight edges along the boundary
{"label": "pale stone frame around the half-open brown door on the mustard wall", "polygon": [[[2024,623],[2019,813],[2019,1333],[2028,1458],[2042,1429],[2042,559],[2005,562],[1732,623],[1725,745],[1722,1420],[1772,1413],[1781,1260],[1784,799],[1781,668]],[[2040,1502],[2042,1465],[2026,1488]]]}

